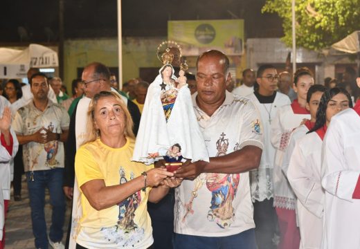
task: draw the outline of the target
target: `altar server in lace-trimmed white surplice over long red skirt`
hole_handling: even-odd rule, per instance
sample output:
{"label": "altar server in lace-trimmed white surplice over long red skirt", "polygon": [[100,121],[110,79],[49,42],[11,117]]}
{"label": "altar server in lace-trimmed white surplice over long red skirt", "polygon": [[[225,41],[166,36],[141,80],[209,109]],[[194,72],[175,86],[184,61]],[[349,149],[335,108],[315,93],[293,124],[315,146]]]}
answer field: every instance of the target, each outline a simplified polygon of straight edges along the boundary
{"label": "altar server in lace-trimmed white surplice over long red skirt", "polygon": [[296,226],[296,197],[291,190],[287,178],[282,173],[282,158],[287,149],[291,132],[310,118],[305,109],[307,91],[314,84],[314,77],[308,68],[299,68],[294,73],[294,91],[298,99],[292,104],[282,107],[275,120],[271,122],[271,143],[276,147],[275,163],[273,167],[273,205],[278,214],[280,229],[279,249],[298,249],[300,232]]}

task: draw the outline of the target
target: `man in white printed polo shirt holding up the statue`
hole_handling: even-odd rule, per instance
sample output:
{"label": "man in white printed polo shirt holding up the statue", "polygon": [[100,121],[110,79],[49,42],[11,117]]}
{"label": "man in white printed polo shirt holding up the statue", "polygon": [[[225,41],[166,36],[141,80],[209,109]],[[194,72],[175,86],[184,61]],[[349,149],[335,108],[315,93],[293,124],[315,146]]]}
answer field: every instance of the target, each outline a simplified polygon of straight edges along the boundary
{"label": "man in white printed polo shirt holding up the statue", "polygon": [[260,114],[248,98],[226,91],[229,60],[218,50],[197,59],[192,104],[210,162],[185,163],[175,176],[174,246],[255,249],[249,170],[262,154]]}

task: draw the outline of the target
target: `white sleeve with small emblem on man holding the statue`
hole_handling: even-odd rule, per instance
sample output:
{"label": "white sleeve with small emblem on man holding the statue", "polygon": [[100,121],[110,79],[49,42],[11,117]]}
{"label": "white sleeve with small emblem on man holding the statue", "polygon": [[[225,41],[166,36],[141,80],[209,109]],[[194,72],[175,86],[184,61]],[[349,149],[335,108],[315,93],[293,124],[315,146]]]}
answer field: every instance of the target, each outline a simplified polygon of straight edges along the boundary
{"label": "white sleeve with small emblem on man holding the statue", "polygon": [[239,149],[247,145],[253,145],[263,149],[264,129],[262,127],[260,113],[251,100],[244,104],[244,111],[240,120],[242,120],[242,125]]}

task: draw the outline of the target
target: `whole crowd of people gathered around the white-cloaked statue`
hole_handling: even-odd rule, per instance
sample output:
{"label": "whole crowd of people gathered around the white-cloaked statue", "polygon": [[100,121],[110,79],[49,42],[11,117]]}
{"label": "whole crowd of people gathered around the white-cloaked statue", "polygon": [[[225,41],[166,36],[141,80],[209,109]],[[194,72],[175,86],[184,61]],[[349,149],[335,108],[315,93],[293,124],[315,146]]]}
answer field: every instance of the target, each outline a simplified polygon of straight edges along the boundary
{"label": "whole crowd of people gathered around the white-cloaked statue", "polygon": [[[196,78],[180,76],[209,160],[186,160],[174,172],[163,160],[133,160],[143,142],[136,140],[144,133],[141,113],[156,120],[165,111],[160,98],[164,110],[146,106],[148,89],[158,101],[154,85],[134,78],[118,89],[99,62],[73,80],[71,98],[60,77],[36,68],[28,85],[8,80],[0,96],[0,248],[11,164],[15,201],[26,174],[35,248],[360,248],[354,69],[346,68],[342,82],[318,84],[309,68],[278,73],[264,64],[245,69],[235,87],[229,66],[226,55],[209,50],[197,59]],[[175,84],[174,73],[177,66],[163,66],[152,83],[161,83],[159,95]],[[64,245],[66,198],[72,211]]]}

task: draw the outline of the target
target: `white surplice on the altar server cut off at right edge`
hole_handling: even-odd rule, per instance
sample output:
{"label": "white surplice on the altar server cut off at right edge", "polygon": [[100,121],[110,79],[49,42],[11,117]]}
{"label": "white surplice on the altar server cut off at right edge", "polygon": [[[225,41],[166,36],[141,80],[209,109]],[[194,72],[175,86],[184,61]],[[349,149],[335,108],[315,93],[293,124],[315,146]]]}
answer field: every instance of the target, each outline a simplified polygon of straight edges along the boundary
{"label": "white surplice on the altar server cut off at right edge", "polygon": [[360,248],[360,200],[352,199],[360,173],[360,117],[346,109],[332,117],[323,141],[323,248]]}

